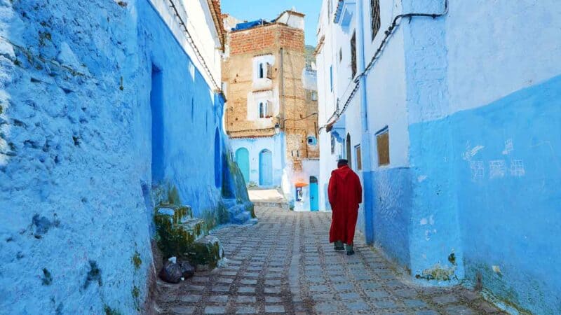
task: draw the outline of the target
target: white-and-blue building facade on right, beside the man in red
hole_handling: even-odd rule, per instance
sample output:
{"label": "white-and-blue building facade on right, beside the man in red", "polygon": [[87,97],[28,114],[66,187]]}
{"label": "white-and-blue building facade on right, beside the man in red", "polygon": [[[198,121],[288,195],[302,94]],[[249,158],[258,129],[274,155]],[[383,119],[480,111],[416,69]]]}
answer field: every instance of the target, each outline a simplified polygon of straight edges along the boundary
{"label": "white-and-blue building facade on right, beside the man in red", "polygon": [[414,281],[560,313],[560,4],[324,0],[321,12],[320,203],[348,158],[365,187],[360,230]]}

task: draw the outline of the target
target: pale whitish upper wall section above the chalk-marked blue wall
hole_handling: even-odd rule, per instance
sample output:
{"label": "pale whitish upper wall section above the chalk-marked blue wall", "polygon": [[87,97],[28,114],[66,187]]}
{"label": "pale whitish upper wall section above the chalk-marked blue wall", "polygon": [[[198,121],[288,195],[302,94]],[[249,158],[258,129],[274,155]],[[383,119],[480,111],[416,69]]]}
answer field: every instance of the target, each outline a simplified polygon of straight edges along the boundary
{"label": "pale whitish upper wall section above the chalk-marked blue wall", "polygon": [[450,110],[484,106],[561,72],[560,2],[450,1],[446,42]]}

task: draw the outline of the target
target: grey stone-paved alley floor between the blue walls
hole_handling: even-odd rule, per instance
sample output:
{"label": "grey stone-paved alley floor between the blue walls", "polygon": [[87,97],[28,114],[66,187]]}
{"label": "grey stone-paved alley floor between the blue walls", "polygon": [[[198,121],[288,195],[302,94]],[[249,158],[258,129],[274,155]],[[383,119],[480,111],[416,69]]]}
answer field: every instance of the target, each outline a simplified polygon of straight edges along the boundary
{"label": "grey stone-paved alley floor between the blue walls", "polygon": [[404,281],[356,237],[333,250],[331,214],[256,207],[257,225],[227,226],[227,264],[178,285],[158,282],[161,314],[501,314],[465,288]]}

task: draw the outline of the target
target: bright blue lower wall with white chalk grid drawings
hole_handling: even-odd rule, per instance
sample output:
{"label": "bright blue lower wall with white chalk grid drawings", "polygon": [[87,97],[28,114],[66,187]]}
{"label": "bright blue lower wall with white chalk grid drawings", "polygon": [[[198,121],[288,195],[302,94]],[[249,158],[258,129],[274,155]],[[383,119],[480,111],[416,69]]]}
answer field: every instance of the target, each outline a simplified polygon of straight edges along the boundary
{"label": "bright blue lower wall with white chalk grid drawings", "polygon": [[448,123],[466,277],[560,314],[561,76],[435,124]]}

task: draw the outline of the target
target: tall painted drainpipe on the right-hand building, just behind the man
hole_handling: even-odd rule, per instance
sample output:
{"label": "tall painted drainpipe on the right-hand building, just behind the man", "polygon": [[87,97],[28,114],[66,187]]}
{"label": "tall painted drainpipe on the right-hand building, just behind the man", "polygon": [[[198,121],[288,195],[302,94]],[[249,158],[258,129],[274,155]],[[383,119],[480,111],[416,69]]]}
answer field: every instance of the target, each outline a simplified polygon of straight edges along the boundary
{"label": "tall painted drainpipe on the right-hand building, just behind the man", "polygon": [[[358,71],[363,73],[366,67],[365,62],[365,27],[364,27],[364,0],[357,1],[356,10],[358,11],[358,20],[356,23],[356,32],[358,39],[357,55],[358,55]],[[374,200],[374,187],[372,187],[372,159],[370,158],[370,130],[368,129],[368,103],[366,76],[360,76],[360,122],[362,123],[362,144],[360,145],[360,153],[363,158],[363,182],[364,182],[364,216],[365,216],[365,238],[367,244],[374,243],[374,208],[372,200]]]}

